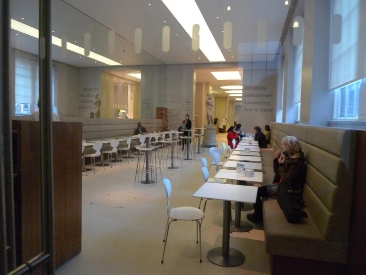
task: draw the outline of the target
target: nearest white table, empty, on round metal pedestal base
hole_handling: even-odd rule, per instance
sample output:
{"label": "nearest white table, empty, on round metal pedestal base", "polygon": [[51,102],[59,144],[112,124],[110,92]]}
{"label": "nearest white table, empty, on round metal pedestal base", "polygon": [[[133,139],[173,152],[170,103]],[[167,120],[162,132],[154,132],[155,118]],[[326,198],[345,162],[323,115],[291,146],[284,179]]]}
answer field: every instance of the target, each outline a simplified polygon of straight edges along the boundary
{"label": "nearest white table, empty, on round metal pedestal base", "polygon": [[255,203],[257,192],[258,187],[207,182],[193,194],[193,197],[196,198],[224,201],[222,247],[209,250],[207,258],[211,263],[221,267],[235,267],[244,263],[244,254],[237,249],[230,248],[230,203]]}

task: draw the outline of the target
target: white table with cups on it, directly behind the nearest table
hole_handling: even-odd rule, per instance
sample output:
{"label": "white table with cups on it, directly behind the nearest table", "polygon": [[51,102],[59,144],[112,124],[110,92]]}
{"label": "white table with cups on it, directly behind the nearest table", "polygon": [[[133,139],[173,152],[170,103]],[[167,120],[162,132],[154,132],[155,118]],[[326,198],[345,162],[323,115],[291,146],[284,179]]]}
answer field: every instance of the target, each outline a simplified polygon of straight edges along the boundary
{"label": "white table with cups on it, directly behind the nearest table", "polygon": [[[235,180],[237,185],[244,185],[244,186],[253,186],[250,182],[263,182],[263,173],[262,172],[254,172],[254,177],[246,177],[244,173],[238,173],[236,170],[227,170],[222,169],[216,175],[215,178],[218,179],[227,179],[227,180]],[[252,210],[253,206],[249,204],[235,204],[235,222],[234,226],[231,228],[231,231],[234,232],[249,232],[253,229],[252,224],[241,221],[241,211],[249,211]]]}

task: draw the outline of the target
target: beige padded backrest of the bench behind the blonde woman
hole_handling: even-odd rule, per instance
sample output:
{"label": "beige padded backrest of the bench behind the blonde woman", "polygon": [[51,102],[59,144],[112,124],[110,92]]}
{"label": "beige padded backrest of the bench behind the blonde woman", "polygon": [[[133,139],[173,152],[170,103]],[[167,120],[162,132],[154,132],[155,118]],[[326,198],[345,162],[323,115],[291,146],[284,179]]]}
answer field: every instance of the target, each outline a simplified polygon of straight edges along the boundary
{"label": "beige padded backrest of the bench behind the blonde woman", "polygon": [[270,123],[273,150],[282,138],[300,140],[308,167],[303,199],[325,239],[348,244],[356,130]]}

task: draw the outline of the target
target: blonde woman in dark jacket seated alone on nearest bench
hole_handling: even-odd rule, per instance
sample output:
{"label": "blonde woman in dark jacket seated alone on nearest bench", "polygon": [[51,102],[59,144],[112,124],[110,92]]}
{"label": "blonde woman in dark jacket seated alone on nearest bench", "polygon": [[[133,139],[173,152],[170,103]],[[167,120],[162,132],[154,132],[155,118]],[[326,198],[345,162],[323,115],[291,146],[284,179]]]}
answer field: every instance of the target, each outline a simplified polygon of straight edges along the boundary
{"label": "blonde woman in dark jacket seated alone on nearest bench", "polygon": [[[281,151],[283,155],[281,155]],[[263,206],[261,198],[276,197],[277,187],[281,182],[291,184],[293,194],[300,201],[303,196],[306,176],[306,159],[299,140],[292,136],[282,138],[281,151],[275,153],[273,160],[274,178],[273,184],[258,188],[257,200],[254,213],[248,214],[247,218],[255,223],[263,221]]]}

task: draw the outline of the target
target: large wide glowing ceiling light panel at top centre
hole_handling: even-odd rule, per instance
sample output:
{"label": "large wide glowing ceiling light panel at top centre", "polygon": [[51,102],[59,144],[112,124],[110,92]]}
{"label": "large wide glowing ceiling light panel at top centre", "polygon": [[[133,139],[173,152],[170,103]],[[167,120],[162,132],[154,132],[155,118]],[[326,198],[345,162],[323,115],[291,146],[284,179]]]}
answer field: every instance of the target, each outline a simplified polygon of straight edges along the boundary
{"label": "large wide glowing ceiling light panel at top centre", "polygon": [[193,25],[200,25],[200,49],[210,62],[226,61],[195,0],[161,0],[192,38]]}

